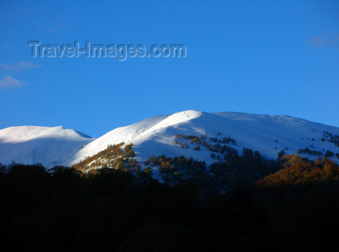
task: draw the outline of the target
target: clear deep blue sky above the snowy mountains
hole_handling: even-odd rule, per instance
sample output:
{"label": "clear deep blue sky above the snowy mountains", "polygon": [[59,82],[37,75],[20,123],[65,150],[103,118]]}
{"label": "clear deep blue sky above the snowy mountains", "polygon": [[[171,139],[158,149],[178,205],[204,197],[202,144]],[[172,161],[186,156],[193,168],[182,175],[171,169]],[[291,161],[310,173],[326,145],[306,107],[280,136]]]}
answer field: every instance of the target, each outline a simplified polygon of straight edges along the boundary
{"label": "clear deep blue sky above the snowy mountains", "polygon": [[[339,1],[1,1],[0,129],[93,137],[187,109],[339,127]],[[184,44],[186,57],[36,57],[41,44]]]}

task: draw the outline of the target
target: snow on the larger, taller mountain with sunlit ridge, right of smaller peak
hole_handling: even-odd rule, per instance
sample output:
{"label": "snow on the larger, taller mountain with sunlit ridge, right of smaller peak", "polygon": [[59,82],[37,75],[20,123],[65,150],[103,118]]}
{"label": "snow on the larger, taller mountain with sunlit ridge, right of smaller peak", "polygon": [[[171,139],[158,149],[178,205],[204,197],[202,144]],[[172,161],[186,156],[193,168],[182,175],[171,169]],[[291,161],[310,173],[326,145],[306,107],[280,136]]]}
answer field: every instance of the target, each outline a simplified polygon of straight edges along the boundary
{"label": "snow on the larger, taller mountain with sunlit ridge, right of smaller peak", "polygon": [[[312,144],[313,147],[309,147],[312,150],[339,152],[339,147],[334,143],[321,141],[324,131],[339,135],[337,127],[290,116],[187,110],[170,116],[152,117],[130,126],[117,128],[89,143],[66,163],[69,165],[78,163],[86,156],[92,156],[107,148],[108,144],[118,144],[122,141],[126,144],[134,144],[133,150],[139,162],[147,160],[151,155],[162,154],[169,157],[184,155],[204,160],[206,163],[216,161],[210,157],[210,150],[204,147],[201,147],[200,151],[194,150],[196,145],[191,145],[189,140],[178,140],[187,142],[189,148],[181,148],[180,145],[174,144],[176,133],[187,135],[194,133],[196,136],[207,134],[208,137],[218,137],[218,139],[231,137],[237,143],[232,147],[238,149],[239,154],[242,154],[242,149],[245,147],[259,150],[267,158],[273,159],[276,159],[277,153],[282,149],[285,150],[286,147],[285,152],[289,154],[297,153],[299,148],[306,148]],[[216,135],[218,132],[221,134]],[[308,154],[301,155],[310,159],[317,158]],[[333,159],[339,161],[335,156]]]}

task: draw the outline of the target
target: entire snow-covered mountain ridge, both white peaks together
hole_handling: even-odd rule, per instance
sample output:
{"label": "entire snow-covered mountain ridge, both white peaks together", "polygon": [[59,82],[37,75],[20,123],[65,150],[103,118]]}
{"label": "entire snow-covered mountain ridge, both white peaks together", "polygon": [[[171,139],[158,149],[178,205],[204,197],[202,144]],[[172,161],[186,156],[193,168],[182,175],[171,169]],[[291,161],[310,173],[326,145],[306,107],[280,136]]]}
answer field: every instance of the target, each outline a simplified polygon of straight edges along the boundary
{"label": "entire snow-covered mountain ridge, both white peaks together", "polygon": [[[144,119],[112,130],[97,139],[62,127],[25,126],[3,129],[0,130],[0,163],[14,160],[17,163],[39,162],[48,167],[60,163],[73,165],[110,144],[121,142],[134,144],[135,158],[141,164],[151,155],[162,154],[169,157],[184,155],[204,160],[206,163],[216,161],[211,157],[208,148],[201,147],[197,151],[194,149],[196,144],[191,144],[189,139],[182,137],[176,139],[175,134],[207,135],[206,142],[209,142],[210,137],[217,137],[218,140],[231,137],[236,141],[236,145],[232,147],[237,149],[239,154],[243,148],[250,148],[273,159],[277,158],[277,153],[282,149],[287,154],[297,153],[299,148],[308,148],[323,154],[326,150],[334,154],[339,152],[339,147],[332,141],[333,138],[331,140],[331,135],[339,135],[338,127],[290,116],[187,110]],[[188,148],[175,144],[175,140],[187,143]],[[318,157],[317,154],[300,155],[310,159]],[[333,159],[339,161],[335,155]]]}

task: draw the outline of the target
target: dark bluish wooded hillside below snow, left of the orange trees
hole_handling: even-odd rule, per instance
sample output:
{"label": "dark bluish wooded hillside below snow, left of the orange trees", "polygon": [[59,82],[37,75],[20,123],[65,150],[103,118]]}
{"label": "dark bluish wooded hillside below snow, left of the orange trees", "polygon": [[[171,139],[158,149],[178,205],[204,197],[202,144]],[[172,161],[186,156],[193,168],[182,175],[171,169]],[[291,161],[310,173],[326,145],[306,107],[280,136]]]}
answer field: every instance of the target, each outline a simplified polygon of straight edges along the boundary
{"label": "dark bluish wooded hillside below snow, left of the orange trees", "polygon": [[280,168],[280,156],[277,160],[269,160],[258,150],[253,152],[243,148],[243,155],[240,156],[236,149],[225,145],[220,152],[224,154],[223,159],[218,155],[217,161],[209,166],[204,161],[193,160],[192,157],[185,158],[183,155],[174,158],[165,155],[151,156],[145,165],[158,165],[160,175],[166,182],[180,183],[189,178],[204,192],[202,197],[205,197],[205,194],[210,197],[211,193],[244,187],[250,182],[275,173]]}

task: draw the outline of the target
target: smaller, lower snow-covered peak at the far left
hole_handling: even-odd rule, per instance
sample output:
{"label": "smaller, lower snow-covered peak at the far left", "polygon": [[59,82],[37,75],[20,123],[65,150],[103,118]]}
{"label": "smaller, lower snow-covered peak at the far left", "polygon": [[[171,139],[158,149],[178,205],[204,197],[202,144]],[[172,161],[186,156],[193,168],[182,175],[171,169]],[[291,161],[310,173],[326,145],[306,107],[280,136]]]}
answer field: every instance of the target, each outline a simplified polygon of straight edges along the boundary
{"label": "smaller, lower snow-covered peak at the far left", "polygon": [[58,127],[18,126],[0,130],[0,163],[33,164],[46,167],[64,164],[92,138]]}

